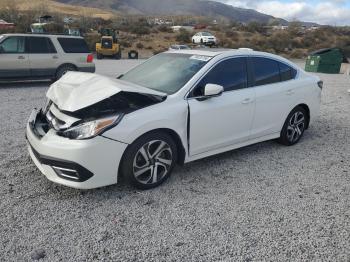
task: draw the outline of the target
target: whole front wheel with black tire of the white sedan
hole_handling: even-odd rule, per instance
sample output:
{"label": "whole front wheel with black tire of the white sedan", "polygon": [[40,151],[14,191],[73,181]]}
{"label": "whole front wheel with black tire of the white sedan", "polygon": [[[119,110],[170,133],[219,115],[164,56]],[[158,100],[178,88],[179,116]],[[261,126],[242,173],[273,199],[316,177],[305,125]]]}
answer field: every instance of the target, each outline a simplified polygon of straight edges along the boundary
{"label": "whole front wheel with black tire of the white sedan", "polygon": [[164,183],[176,162],[174,140],[156,131],[141,136],[126,149],[120,171],[131,185],[147,190]]}

